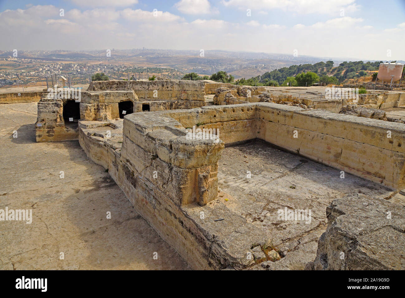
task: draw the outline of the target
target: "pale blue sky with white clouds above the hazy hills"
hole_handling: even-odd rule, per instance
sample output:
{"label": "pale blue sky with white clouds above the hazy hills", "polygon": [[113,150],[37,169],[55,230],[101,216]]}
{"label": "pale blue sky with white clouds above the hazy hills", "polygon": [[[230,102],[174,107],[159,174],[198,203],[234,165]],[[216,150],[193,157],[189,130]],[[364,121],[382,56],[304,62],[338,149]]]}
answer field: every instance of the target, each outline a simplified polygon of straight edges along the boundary
{"label": "pale blue sky with white clouds above the hazy hills", "polygon": [[201,49],[405,60],[405,0],[0,0],[0,50]]}

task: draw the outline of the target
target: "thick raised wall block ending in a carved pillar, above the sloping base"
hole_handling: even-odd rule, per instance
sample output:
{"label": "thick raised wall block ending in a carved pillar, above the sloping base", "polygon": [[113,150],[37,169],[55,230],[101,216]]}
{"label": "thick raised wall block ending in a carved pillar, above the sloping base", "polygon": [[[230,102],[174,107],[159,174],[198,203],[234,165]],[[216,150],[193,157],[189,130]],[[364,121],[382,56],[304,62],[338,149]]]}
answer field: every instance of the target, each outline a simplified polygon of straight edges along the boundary
{"label": "thick raised wall block ending in a carved pillar, above the sloping base", "polygon": [[217,163],[224,142],[185,135],[173,118],[131,114],[124,119],[121,160],[154,193],[177,205],[205,205],[217,197]]}

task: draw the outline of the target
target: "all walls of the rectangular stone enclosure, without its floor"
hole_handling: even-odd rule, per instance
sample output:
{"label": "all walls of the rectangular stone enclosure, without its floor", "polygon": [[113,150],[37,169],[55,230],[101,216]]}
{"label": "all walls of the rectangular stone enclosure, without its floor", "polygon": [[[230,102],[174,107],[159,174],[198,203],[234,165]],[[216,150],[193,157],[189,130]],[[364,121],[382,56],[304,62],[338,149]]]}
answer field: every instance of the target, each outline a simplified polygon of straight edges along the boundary
{"label": "all walls of the rectangular stone enclosure, without its floor", "polygon": [[[248,266],[196,219],[196,206],[217,199],[225,145],[261,139],[391,189],[404,187],[405,133],[395,122],[247,103],[134,113],[119,123],[80,120],[82,148],[192,268]],[[215,137],[198,137],[198,128],[215,129]]]}

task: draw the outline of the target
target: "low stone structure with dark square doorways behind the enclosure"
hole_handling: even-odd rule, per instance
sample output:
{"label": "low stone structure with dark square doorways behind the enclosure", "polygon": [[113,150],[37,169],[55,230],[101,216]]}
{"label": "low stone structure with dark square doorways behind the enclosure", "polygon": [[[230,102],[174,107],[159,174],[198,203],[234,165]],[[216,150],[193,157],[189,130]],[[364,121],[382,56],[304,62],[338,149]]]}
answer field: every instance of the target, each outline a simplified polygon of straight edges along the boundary
{"label": "low stone structure with dark square doorways behind the enclosure", "polygon": [[[67,126],[71,123],[62,117],[64,103],[68,100],[70,98],[66,96],[45,96],[41,99],[36,123],[37,141],[77,139],[77,128]],[[93,81],[87,91],[81,92],[78,101],[80,119],[89,121],[122,118],[123,113],[128,112],[119,108],[119,103],[124,101],[132,103],[133,112],[193,109],[205,105],[204,83],[185,80]],[[77,123],[76,120],[74,122]]]}

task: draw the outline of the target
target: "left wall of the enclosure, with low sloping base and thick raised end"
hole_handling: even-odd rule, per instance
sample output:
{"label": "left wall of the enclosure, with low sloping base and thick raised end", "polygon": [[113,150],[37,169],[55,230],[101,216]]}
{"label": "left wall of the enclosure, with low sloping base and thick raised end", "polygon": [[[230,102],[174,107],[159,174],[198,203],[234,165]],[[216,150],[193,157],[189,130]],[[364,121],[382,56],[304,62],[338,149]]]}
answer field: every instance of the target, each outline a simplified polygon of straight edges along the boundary
{"label": "left wall of the enclosure, with low sloping base and thick raised end", "polygon": [[[92,131],[101,126],[111,129],[111,138]],[[111,122],[80,121],[79,127],[87,156],[109,169],[137,212],[193,269],[224,268],[211,235],[183,210],[216,197],[222,141],[189,140],[179,122],[153,112],[126,116],[121,138]]]}

